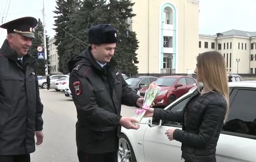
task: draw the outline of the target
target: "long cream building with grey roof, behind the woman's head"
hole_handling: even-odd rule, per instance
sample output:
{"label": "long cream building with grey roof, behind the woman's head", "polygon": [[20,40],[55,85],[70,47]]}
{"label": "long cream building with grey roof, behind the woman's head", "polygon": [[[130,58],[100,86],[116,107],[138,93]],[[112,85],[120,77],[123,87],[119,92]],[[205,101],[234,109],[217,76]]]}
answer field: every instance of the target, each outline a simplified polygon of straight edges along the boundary
{"label": "long cream building with grey roof, behind the woman's head", "polygon": [[214,36],[199,35],[199,53],[217,50],[226,60],[228,73],[256,73],[256,32],[230,30]]}

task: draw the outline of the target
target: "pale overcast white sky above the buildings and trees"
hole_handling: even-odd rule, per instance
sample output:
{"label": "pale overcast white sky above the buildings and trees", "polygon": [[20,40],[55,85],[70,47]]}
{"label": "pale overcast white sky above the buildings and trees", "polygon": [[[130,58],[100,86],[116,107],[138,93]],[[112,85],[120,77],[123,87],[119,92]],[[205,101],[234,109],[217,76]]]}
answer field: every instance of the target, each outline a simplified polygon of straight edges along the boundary
{"label": "pale overcast white sky above the buildings and trees", "polygon": [[[47,34],[53,38],[55,32],[52,29],[54,28],[52,11],[55,10],[56,1],[44,0],[44,2]],[[199,33],[214,35],[231,29],[256,32],[255,6],[256,0],[200,0]],[[1,0],[0,24],[2,24],[2,18],[4,23],[25,16],[41,18],[43,21],[42,9],[43,0]],[[6,30],[0,29],[0,47],[6,35]]]}

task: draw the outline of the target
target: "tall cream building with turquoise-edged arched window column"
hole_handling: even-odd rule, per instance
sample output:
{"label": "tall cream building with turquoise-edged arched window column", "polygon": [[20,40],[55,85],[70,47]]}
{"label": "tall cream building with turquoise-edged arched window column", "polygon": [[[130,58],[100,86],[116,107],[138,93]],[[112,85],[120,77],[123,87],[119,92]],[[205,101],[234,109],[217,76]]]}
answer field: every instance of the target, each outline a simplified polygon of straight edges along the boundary
{"label": "tall cream building with turquoise-edged arched window column", "polygon": [[[131,0],[139,74],[187,73],[196,67],[199,1]],[[118,45],[118,44],[117,44]],[[190,71],[191,71],[190,70]]]}

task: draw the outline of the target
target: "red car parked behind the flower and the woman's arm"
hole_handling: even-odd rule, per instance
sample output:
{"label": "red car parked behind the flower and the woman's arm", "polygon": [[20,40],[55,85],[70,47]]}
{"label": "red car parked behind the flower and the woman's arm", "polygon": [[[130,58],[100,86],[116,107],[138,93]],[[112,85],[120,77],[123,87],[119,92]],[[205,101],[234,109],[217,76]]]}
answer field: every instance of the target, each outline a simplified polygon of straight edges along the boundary
{"label": "red car parked behind the flower and the woman's arm", "polygon": [[[189,76],[163,76],[155,83],[160,87],[159,95],[156,97],[155,106],[168,106],[176,99],[186,94],[196,83],[196,80]],[[140,89],[137,94],[144,97],[147,87]]]}

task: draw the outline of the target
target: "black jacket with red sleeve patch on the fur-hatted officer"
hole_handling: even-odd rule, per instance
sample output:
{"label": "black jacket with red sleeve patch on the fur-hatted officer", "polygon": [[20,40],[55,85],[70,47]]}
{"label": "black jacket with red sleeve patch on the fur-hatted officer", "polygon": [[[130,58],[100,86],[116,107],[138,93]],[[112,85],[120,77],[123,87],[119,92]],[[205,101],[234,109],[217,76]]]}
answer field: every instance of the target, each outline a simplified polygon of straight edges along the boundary
{"label": "black jacket with red sleeve patch on the fur-hatted officer", "polygon": [[69,61],[69,87],[77,109],[78,149],[103,153],[113,151],[111,141],[117,138],[113,131],[119,126],[121,104],[136,106],[139,96],[128,87],[114,59],[104,70],[90,50],[91,46]]}

